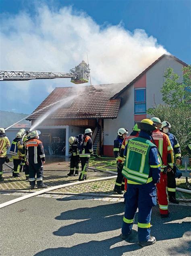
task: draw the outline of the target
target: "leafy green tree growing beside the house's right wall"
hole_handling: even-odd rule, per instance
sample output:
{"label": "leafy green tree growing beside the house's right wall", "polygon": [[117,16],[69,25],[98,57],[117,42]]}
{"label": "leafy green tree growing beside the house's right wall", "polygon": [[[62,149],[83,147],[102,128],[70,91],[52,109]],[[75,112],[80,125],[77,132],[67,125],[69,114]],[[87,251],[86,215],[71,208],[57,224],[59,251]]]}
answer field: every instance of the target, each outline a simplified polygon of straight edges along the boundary
{"label": "leafy green tree growing beside the house's right wall", "polygon": [[172,68],[165,71],[164,78],[161,89],[163,103],[149,108],[147,113],[171,124],[170,132],[178,139],[182,155],[185,156],[185,147],[191,141],[191,66],[183,68],[182,83]]}

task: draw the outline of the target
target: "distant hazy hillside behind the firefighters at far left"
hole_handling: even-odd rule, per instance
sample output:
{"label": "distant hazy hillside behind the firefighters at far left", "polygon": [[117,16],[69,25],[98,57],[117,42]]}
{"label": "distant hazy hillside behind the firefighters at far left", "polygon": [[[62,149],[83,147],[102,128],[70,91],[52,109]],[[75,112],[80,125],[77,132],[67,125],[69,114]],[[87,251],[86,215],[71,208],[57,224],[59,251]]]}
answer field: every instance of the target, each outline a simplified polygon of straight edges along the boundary
{"label": "distant hazy hillside behind the firefighters at far left", "polygon": [[[15,122],[18,122],[22,118],[25,118],[28,114],[23,113],[14,113],[8,111],[1,111],[0,110],[0,127],[8,127]],[[26,121],[25,119],[21,122],[22,124],[31,125],[31,122]]]}

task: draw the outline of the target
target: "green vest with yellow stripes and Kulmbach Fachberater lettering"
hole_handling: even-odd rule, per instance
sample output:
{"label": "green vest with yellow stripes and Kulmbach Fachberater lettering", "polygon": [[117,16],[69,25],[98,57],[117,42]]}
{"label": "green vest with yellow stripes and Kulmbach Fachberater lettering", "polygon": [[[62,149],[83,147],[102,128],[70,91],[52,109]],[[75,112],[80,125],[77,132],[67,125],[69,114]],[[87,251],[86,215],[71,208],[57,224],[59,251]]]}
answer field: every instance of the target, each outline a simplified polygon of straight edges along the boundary
{"label": "green vest with yellow stripes and Kulmbach Fachberater lettering", "polygon": [[[149,151],[151,147],[156,146],[145,138],[138,137],[129,140],[127,157],[122,170],[123,176],[138,184],[148,183]],[[152,178],[150,181],[152,181]]]}

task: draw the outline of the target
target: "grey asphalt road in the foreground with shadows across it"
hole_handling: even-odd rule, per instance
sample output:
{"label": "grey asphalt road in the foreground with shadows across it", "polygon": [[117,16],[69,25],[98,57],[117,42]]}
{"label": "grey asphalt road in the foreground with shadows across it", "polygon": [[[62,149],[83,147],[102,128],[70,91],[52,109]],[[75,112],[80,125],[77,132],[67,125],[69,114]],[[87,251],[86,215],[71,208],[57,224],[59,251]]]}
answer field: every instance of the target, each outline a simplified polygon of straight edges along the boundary
{"label": "grey asphalt road in the foreground with shadows across it", "polygon": [[[0,203],[16,196],[0,195]],[[171,216],[161,219],[153,208],[152,246],[137,245],[137,224],[129,242],[119,237],[123,203],[33,197],[1,209],[3,256],[30,255],[189,255],[191,210],[170,206]],[[137,223],[137,216],[135,218]]]}

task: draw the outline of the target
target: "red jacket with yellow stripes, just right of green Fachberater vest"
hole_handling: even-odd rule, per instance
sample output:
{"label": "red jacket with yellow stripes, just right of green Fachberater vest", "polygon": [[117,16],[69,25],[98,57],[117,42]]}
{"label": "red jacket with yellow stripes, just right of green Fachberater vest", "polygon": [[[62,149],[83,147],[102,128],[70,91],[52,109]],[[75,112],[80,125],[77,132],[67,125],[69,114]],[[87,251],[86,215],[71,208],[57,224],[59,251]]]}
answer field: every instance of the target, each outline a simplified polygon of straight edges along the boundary
{"label": "red jacket with yellow stripes, just right of green Fachberater vest", "polygon": [[[173,149],[170,144],[170,140],[168,136],[160,132],[160,130],[156,129],[152,132],[152,138],[154,139],[154,143],[158,147],[158,151],[160,152],[160,155],[162,156],[162,159],[160,159],[161,164],[161,171],[163,172],[164,168],[169,164],[171,167],[173,167]],[[162,164],[163,162],[163,164]]]}

